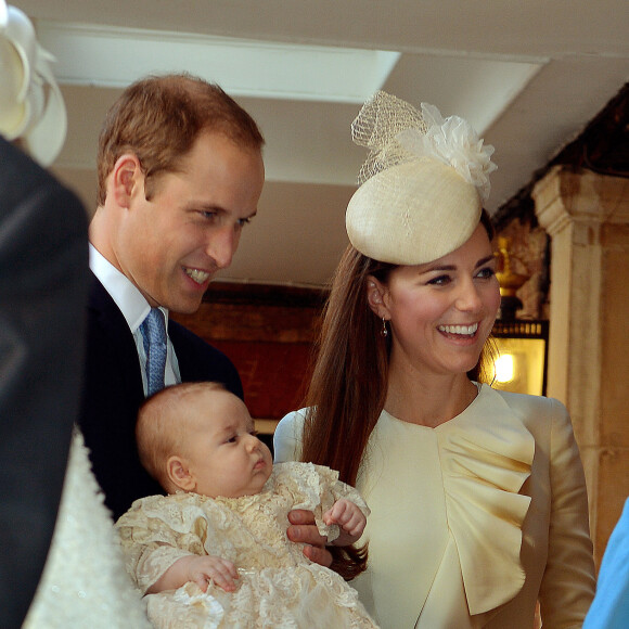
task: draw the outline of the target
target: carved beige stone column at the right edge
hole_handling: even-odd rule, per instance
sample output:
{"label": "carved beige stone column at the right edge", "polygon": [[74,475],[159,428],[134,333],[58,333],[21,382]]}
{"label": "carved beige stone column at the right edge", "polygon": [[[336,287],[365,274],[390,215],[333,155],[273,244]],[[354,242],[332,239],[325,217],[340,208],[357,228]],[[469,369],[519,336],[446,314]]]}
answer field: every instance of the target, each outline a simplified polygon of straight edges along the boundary
{"label": "carved beige stone column at the right edge", "polygon": [[557,166],[532,197],[552,239],[548,395],[573,419],[600,562],[629,496],[629,179]]}

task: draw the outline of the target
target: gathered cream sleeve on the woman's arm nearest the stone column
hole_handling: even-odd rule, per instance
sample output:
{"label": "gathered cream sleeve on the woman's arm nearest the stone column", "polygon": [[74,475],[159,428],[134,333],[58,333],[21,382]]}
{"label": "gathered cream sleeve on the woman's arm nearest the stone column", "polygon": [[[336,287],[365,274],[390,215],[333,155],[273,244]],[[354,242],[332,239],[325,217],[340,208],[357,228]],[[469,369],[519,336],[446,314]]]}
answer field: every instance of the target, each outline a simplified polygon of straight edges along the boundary
{"label": "gathered cream sleeve on the woman's arm nearest the stone column", "polygon": [[549,555],[539,593],[544,627],[581,627],[595,589],[588,496],[565,407],[552,403]]}

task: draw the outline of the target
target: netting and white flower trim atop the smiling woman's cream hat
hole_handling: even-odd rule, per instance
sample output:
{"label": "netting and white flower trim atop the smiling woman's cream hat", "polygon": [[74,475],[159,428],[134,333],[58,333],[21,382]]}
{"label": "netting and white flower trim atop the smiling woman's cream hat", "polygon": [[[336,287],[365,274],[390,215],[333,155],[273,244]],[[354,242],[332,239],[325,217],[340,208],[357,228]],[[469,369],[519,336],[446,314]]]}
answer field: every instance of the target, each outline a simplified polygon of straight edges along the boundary
{"label": "netting and white flower trim atop the smiling woman's cream hat", "polygon": [[493,146],[484,146],[463,118],[444,119],[434,105],[422,103],[421,107],[420,112],[383,91],[364,103],[351,124],[354,142],[370,150],[358,175],[359,185],[387,168],[427,157],[451,166],[486,201],[489,174],[497,168],[491,162]]}

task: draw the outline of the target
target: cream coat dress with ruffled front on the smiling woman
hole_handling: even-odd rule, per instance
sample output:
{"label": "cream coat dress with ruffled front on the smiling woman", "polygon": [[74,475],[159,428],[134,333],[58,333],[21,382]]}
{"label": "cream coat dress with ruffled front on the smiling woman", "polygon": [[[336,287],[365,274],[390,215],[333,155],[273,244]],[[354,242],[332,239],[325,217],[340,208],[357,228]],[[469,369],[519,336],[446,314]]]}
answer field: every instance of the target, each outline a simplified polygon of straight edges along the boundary
{"label": "cream coat dress with ruffled front on the smiling woman", "polygon": [[[299,460],[305,414],[280,423],[277,461]],[[436,428],[383,410],[357,488],[372,514],[351,585],[383,629],[532,629],[538,596],[544,628],[581,626],[594,590],[587,496],[556,400],[483,385]]]}

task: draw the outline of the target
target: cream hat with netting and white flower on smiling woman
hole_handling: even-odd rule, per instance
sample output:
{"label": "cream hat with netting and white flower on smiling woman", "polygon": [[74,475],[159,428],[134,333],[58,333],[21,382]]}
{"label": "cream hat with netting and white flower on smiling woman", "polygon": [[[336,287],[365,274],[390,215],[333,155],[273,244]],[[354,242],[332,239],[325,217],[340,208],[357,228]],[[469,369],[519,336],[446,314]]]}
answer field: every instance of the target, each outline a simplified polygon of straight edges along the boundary
{"label": "cream hat with netting and white flower on smiling woman", "polygon": [[493,146],[483,146],[467,121],[421,108],[378,91],[351,124],[354,142],[371,153],[347,206],[347,234],[383,262],[422,265],[465,243],[497,168]]}

